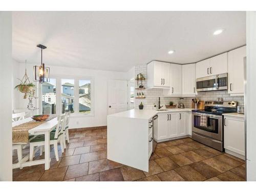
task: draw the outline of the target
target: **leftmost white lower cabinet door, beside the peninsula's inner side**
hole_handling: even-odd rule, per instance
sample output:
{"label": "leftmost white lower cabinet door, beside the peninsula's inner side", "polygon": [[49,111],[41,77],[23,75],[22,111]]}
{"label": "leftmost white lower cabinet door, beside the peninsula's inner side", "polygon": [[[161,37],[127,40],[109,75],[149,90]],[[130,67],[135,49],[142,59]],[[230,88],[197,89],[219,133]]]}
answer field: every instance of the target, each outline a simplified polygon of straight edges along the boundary
{"label": "leftmost white lower cabinet door, beside the peninsula's inner side", "polygon": [[158,114],[157,140],[166,139],[168,137],[168,123],[168,114]]}

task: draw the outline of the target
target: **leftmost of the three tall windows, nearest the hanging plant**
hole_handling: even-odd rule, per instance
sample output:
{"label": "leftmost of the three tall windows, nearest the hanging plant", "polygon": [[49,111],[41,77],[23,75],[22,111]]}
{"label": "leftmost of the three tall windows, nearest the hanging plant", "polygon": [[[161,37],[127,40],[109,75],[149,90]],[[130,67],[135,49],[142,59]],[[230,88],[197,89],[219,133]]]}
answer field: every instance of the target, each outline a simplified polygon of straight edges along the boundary
{"label": "leftmost of the three tall windows, nearest the hanging plant", "polygon": [[56,79],[50,79],[50,82],[43,82],[41,87],[42,114],[56,113]]}

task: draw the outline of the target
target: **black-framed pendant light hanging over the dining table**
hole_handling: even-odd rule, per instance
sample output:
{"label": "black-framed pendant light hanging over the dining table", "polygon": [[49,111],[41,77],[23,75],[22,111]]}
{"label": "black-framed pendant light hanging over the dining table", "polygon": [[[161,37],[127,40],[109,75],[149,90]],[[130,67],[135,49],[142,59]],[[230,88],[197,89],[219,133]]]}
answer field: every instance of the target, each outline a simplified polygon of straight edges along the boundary
{"label": "black-framed pendant light hanging over the dining table", "polygon": [[46,49],[46,46],[41,44],[36,47],[41,49],[41,65],[34,66],[34,81],[39,81],[39,83],[50,82],[50,68],[45,67],[45,63],[42,63],[42,50]]}

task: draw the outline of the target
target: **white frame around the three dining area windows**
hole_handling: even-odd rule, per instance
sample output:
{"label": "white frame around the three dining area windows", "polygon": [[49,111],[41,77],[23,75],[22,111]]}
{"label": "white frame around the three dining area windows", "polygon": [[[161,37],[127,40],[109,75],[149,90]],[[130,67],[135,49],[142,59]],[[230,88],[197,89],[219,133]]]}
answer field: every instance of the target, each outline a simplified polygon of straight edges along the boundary
{"label": "white frame around the three dining area windows", "polygon": [[[71,117],[94,117],[94,77],[90,76],[72,76],[72,75],[51,75],[51,79],[56,79],[56,114],[61,114],[61,79],[74,79],[74,113]],[[91,81],[91,113],[79,113],[79,80]],[[39,113],[42,113],[42,84],[38,86],[38,104]]]}

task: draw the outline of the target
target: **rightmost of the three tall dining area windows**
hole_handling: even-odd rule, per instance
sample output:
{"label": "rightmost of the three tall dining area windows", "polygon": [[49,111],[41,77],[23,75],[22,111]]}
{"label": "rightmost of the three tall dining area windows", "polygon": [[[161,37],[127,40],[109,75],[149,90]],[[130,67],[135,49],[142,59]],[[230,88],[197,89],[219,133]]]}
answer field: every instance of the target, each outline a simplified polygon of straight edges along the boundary
{"label": "rightmost of the three tall dining area windows", "polygon": [[91,80],[79,80],[79,113],[91,113]]}

